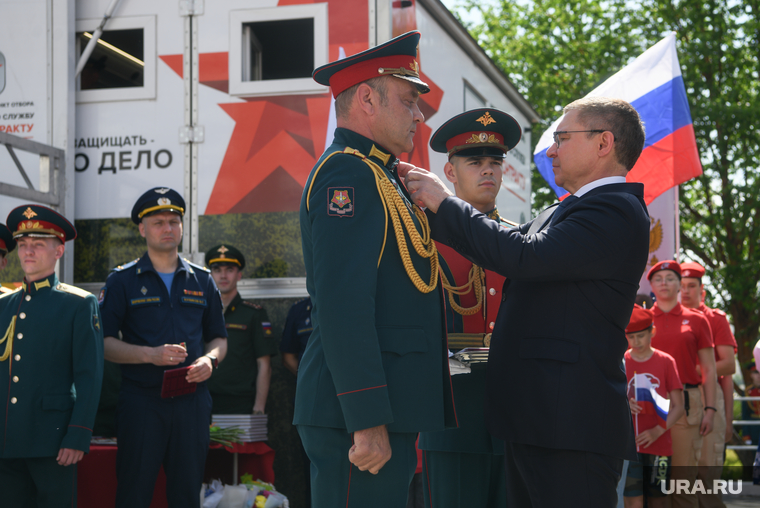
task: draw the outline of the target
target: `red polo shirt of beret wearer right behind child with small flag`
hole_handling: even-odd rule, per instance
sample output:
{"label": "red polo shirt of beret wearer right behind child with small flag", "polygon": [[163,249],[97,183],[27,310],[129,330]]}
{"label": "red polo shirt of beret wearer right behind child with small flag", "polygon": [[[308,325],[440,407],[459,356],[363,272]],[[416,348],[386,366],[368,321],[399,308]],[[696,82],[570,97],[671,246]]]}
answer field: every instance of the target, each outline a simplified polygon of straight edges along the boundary
{"label": "red polo shirt of beret wearer right behind child with small flag", "polygon": [[707,318],[701,312],[683,307],[680,303],[670,312],[660,310],[657,303],[652,310],[657,329],[652,337],[652,347],[673,357],[683,384],[701,384],[702,378],[697,376],[697,351],[713,347]]}

